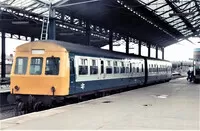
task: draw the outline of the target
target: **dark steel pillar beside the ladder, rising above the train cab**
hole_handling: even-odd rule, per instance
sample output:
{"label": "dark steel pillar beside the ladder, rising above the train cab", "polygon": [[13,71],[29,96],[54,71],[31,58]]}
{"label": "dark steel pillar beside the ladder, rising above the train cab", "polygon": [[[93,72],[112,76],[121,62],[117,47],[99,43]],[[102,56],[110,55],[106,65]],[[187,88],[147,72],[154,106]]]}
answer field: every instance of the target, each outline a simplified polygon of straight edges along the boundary
{"label": "dark steel pillar beside the ladder, rising above the train cab", "polygon": [[56,20],[55,20],[55,9],[50,9],[49,12],[49,29],[48,29],[48,39],[56,39]]}

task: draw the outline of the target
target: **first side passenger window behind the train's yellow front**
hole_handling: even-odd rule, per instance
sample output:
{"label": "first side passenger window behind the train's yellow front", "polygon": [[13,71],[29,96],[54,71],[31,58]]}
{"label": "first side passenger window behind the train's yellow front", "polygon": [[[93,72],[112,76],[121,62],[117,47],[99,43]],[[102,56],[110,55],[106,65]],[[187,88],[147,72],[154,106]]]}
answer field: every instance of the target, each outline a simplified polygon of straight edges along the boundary
{"label": "first side passenger window behind the train's yellow front", "polygon": [[79,59],[79,75],[87,75],[87,74],[88,74],[88,60]]}

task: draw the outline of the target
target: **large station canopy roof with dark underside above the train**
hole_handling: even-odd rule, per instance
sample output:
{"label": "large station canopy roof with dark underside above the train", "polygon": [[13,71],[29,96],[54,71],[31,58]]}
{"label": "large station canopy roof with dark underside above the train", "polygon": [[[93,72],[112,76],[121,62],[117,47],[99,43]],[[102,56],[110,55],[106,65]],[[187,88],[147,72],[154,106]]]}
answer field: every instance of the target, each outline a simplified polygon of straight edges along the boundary
{"label": "large station canopy roof with dark underside above the train", "polygon": [[[34,14],[39,18],[48,16],[51,6],[56,10],[56,22],[68,21],[67,27],[73,32],[71,36],[71,32],[67,32],[68,36],[60,36],[58,34],[62,33],[64,26],[57,24],[56,39],[60,40],[84,41],[84,35],[74,32],[78,30],[84,34],[85,21],[90,22],[93,43],[99,41],[100,46],[108,44],[111,30],[114,39],[129,36],[160,47],[200,36],[200,0],[0,0],[0,5],[1,28],[6,30],[7,26],[7,30],[16,29],[14,33],[24,35],[39,36],[41,21],[40,26],[29,25],[29,29],[35,32],[26,32],[9,25],[6,19],[22,19],[24,16],[20,13]],[[77,24],[76,20],[83,20],[83,25]]]}

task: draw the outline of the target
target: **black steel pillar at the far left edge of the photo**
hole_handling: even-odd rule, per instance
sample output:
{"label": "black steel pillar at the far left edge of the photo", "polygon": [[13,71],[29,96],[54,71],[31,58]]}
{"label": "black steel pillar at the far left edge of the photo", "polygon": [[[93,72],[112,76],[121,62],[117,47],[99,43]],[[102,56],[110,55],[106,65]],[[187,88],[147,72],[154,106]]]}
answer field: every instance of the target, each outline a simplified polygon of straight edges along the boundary
{"label": "black steel pillar at the far left edge of the photo", "polygon": [[6,38],[5,32],[1,32],[1,78],[6,76]]}

